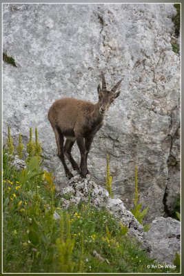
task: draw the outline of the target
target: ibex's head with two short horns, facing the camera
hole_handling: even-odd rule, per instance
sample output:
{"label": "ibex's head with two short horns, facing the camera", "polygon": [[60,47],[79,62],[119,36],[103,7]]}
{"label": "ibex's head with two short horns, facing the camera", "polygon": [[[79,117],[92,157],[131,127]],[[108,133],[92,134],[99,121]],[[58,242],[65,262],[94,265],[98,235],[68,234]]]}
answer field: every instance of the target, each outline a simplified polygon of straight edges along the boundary
{"label": "ibex's head with two short horns, facing the camera", "polygon": [[105,112],[108,111],[114,99],[119,97],[120,91],[116,92],[116,90],[119,87],[121,81],[123,81],[123,79],[121,79],[118,83],[116,83],[116,85],[114,86],[114,88],[112,88],[111,91],[108,91],[106,88],[105,76],[103,75],[103,72],[101,72],[101,77],[102,77],[102,88],[100,84],[98,85],[98,88],[97,88],[99,93],[99,112],[101,113],[101,115],[105,115]]}

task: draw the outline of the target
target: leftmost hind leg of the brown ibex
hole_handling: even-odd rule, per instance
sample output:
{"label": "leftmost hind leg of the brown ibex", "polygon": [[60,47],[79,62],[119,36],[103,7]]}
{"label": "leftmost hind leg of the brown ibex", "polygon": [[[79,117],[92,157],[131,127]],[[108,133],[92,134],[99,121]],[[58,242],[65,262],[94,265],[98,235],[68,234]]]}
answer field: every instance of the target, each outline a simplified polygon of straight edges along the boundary
{"label": "leftmost hind leg of the brown ibex", "polygon": [[65,156],[64,156],[64,149],[63,149],[64,137],[59,128],[54,128],[54,135],[57,141],[58,157],[63,164],[66,177],[68,177],[68,179],[71,179],[74,176],[72,175],[72,172],[70,172],[68,166],[65,164]]}

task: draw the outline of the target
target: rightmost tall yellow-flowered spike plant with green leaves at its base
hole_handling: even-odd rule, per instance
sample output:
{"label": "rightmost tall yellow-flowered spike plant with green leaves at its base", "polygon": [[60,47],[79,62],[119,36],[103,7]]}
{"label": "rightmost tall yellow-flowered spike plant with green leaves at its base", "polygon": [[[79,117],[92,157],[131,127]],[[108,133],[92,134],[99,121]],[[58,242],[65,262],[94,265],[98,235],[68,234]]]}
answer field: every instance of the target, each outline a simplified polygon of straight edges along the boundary
{"label": "rightmost tall yellow-flowered spike plant with green leaves at its base", "polygon": [[[137,168],[135,168],[135,195],[134,195],[134,209],[130,209],[131,213],[134,215],[134,217],[139,221],[140,224],[143,225],[142,219],[145,217],[147,210],[150,206],[147,206],[142,212],[140,212],[141,209],[141,202],[137,204],[137,200],[139,197],[138,190],[137,190]],[[144,231],[147,232],[147,230],[150,227],[150,224],[143,225]]]}

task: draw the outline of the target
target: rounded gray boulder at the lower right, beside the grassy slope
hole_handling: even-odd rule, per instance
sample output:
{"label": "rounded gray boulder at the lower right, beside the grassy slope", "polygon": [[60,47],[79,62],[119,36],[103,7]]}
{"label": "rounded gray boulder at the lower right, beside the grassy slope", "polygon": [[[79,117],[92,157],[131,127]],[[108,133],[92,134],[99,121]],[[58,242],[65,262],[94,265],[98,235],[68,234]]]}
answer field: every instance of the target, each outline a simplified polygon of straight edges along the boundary
{"label": "rounded gray boulder at the lower right, beside the grassy slope", "polygon": [[175,253],[181,254],[181,223],[171,217],[156,217],[147,231],[150,257],[172,264]]}

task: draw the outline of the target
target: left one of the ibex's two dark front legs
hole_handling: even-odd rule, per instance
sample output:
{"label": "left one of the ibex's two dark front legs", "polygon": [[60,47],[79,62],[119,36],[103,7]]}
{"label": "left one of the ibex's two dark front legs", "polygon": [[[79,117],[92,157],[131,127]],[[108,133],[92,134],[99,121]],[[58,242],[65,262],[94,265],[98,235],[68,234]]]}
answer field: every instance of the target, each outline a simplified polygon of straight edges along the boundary
{"label": "left one of the ibex's two dark front legs", "polygon": [[85,166],[85,145],[83,141],[83,135],[75,134],[75,137],[76,137],[76,144],[79,146],[79,150],[81,153],[81,164],[79,168],[79,173],[81,177],[86,177],[87,171]]}

